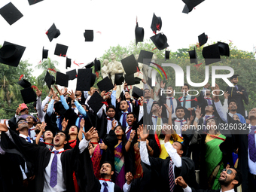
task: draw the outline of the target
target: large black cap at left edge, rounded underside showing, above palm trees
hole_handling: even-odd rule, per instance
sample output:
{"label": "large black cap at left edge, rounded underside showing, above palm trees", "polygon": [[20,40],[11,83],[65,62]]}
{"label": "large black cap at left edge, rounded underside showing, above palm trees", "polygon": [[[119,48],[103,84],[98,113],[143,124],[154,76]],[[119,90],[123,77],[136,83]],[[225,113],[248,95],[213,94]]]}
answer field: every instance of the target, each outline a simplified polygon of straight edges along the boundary
{"label": "large black cap at left edge, rounded underside showing, above palm trees", "polygon": [[5,41],[0,49],[0,62],[8,66],[17,67],[25,49],[26,47]]}

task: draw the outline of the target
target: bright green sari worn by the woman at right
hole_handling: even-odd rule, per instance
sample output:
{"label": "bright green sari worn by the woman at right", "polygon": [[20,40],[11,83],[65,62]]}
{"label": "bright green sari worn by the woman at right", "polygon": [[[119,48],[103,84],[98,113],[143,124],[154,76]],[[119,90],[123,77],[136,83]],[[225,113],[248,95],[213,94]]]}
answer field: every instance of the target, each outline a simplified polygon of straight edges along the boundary
{"label": "bright green sari worn by the woman at right", "polygon": [[[226,139],[226,137],[222,134],[218,137]],[[209,186],[211,186],[214,190],[221,188],[218,178],[221,175],[222,169],[224,169],[224,165],[222,163],[223,154],[219,147],[222,142],[224,141],[221,139],[212,139],[211,141],[206,142],[207,178],[209,180]]]}

